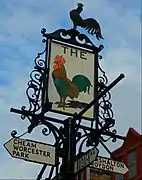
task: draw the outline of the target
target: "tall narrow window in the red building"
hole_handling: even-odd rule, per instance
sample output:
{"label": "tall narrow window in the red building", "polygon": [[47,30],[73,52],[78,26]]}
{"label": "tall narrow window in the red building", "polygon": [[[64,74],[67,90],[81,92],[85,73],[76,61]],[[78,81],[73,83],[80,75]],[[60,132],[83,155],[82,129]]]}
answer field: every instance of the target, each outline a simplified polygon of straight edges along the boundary
{"label": "tall narrow window in the red building", "polygon": [[128,168],[128,177],[132,179],[137,175],[136,151],[132,151],[128,154]]}

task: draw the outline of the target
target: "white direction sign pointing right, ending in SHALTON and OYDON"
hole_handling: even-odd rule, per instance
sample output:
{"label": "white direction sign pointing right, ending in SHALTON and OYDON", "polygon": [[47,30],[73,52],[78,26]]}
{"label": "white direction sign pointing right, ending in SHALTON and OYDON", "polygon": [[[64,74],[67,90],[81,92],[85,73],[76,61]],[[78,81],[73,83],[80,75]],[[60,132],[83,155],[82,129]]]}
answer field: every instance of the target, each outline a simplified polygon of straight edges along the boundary
{"label": "white direction sign pointing right, ending in SHALTON and OYDON", "polygon": [[90,165],[90,167],[119,174],[125,174],[128,171],[128,168],[123,162],[113,161],[109,158],[100,156],[95,159],[95,161]]}

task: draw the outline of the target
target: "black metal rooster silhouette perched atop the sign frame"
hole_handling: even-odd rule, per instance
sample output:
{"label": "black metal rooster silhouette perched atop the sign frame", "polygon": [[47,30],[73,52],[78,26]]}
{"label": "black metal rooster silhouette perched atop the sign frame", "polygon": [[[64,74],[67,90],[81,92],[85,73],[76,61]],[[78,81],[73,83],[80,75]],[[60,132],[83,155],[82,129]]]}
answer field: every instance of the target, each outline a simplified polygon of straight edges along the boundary
{"label": "black metal rooster silhouette perched atop the sign frame", "polygon": [[78,3],[78,7],[70,11],[70,18],[73,22],[73,28],[76,29],[77,26],[80,26],[85,30],[87,30],[89,34],[91,35],[96,34],[96,38],[98,40],[104,39],[101,34],[101,27],[99,23],[93,18],[83,19],[80,16],[80,13],[82,11],[83,11],[82,3]]}

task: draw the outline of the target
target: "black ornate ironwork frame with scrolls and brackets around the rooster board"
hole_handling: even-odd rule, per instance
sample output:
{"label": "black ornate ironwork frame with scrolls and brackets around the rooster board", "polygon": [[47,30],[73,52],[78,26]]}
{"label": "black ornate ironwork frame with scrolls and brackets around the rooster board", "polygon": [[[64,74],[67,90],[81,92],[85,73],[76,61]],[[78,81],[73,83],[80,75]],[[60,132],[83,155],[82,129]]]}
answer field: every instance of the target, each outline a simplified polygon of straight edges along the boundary
{"label": "black ornate ironwork frame with scrolls and brackets around the rooster board", "polygon": [[[103,145],[103,143],[107,142],[109,139],[112,138],[112,141],[115,142],[117,138],[124,139],[124,137],[120,137],[116,135],[116,130],[112,128],[115,125],[115,120],[113,118],[113,110],[112,110],[112,104],[110,102],[111,100],[111,94],[109,92],[110,88],[112,88],[114,85],[116,85],[123,77],[122,75],[117,79],[117,81],[110,85],[110,88],[108,88],[108,79],[106,76],[106,73],[102,70],[100,66],[100,60],[102,58],[101,55],[99,55],[99,52],[104,48],[103,45],[100,45],[99,47],[96,47],[92,41],[85,35],[81,34],[76,29],[58,29],[53,33],[47,33],[46,29],[43,28],[41,30],[42,36],[44,37],[43,42],[46,43],[45,50],[41,53],[38,53],[37,57],[35,58],[35,67],[34,70],[30,74],[30,81],[28,82],[28,87],[26,90],[26,95],[28,98],[29,106],[22,106],[21,110],[13,109],[11,108],[12,112],[16,112],[18,114],[21,114],[21,118],[25,119],[27,118],[30,121],[30,125],[28,127],[28,133],[31,133],[32,130],[39,126],[44,125],[45,128],[42,129],[42,133],[45,136],[49,136],[52,134],[54,137],[54,146],[56,148],[56,175],[58,174],[58,168],[59,168],[59,158],[63,159],[63,162],[66,161],[66,154],[67,147],[69,145],[69,142],[67,140],[72,140],[73,146],[72,150],[74,151],[74,154],[76,153],[76,147],[78,147],[78,155],[76,154],[75,158],[78,158],[78,156],[81,156],[81,154],[84,152],[84,150],[88,147],[97,147],[99,143]],[[73,45],[77,45],[83,48],[89,48],[93,52],[97,52],[97,68],[99,70],[99,76],[97,79],[97,92],[98,97],[102,94],[102,96],[96,100],[95,103],[98,105],[98,117],[97,120],[94,119],[93,123],[98,123],[99,126],[94,128],[94,126],[84,126],[81,124],[83,115],[81,112],[80,114],[74,114],[71,118],[75,122],[74,126],[72,127],[72,124],[67,125],[66,120],[62,121],[56,118],[51,118],[45,116],[45,113],[50,111],[52,109],[52,106],[50,102],[46,102],[49,107],[47,108],[47,104],[44,103],[44,96],[45,96],[45,82],[47,80],[47,76],[49,75],[49,69],[47,69],[46,66],[46,58],[45,56],[48,51],[48,40],[59,40],[64,43],[70,43]],[[104,93],[105,92],[105,93]],[[48,97],[47,97],[48,98]],[[92,103],[92,102],[91,102]],[[89,106],[90,104],[89,103]],[[90,106],[91,107],[91,106]],[[82,110],[83,111],[83,110]],[[65,114],[69,115],[70,114]],[[71,120],[71,122],[73,122]],[[62,124],[62,126],[57,127],[54,123]],[[69,136],[69,130],[72,130],[72,136],[73,137],[67,137]],[[73,129],[72,129],[73,128]],[[26,133],[27,133],[26,132]],[[74,132],[74,134],[73,134]],[[14,130],[11,133],[12,137],[16,137],[17,132]],[[105,138],[107,136],[107,138]],[[20,136],[19,136],[20,137]],[[73,139],[72,139],[73,138]],[[75,142],[75,143],[74,143]],[[68,145],[67,145],[68,144]],[[75,147],[76,146],[76,147]],[[105,145],[104,145],[105,147]],[[75,149],[74,149],[75,148]],[[105,147],[106,148],[106,147]],[[71,150],[71,149],[70,149]],[[109,150],[106,148],[106,150],[109,152]],[[70,152],[71,155],[71,152]],[[46,168],[46,165],[43,166],[42,172],[38,176],[38,180],[42,178],[42,174]],[[53,168],[51,168],[51,173],[49,175],[49,178],[51,178],[51,174],[53,173]]]}

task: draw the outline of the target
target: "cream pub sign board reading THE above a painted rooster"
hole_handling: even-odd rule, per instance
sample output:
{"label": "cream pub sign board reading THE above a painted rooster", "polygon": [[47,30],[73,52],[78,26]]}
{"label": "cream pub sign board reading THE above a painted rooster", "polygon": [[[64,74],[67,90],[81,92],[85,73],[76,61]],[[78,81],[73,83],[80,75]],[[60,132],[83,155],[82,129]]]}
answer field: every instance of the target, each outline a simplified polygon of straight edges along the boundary
{"label": "cream pub sign board reading THE above a painted rooster", "polygon": [[[47,99],[59,113],[79,113],[94,99],[95,54],[92,50],[55,40],[50,46]],[[93,107],[84,116],[93,118]]]}

